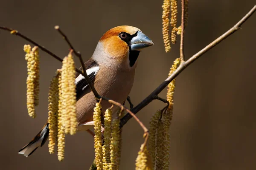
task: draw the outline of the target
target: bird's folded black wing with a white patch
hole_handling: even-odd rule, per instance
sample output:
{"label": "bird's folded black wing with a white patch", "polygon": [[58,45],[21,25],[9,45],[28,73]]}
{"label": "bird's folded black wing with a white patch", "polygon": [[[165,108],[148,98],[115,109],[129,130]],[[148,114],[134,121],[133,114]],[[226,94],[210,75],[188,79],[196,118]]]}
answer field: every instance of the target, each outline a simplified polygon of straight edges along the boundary
{"label": "bird's folded black wing with a white patch", "polygon": [[[93,82],[96,74],[99,71],[99,64],[95,60],[89,59],[87,62],[84,63],[84,66],[85,66],[88,77]],[[84,76],[82,76],[81,74],[76,75],[75,83],[76,83],[76,99],[79,99],[83,94],[82,92],[85,89],[89,88],[89,85],[86,79],[84,78]]]}

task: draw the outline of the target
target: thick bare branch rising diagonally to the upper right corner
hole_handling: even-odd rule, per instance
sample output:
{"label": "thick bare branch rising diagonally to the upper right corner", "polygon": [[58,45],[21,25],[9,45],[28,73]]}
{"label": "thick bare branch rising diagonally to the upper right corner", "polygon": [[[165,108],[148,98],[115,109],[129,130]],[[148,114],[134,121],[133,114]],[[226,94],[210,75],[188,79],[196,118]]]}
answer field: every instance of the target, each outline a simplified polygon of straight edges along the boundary
{"label": "thick bare branch rising diagonally to the upper right corner", "polygon": [[[185,68],[187,68],[192,62],[194,62],[196,59],[201,57],[203,54],[205,54],[207,51],[212,49],[215,45],[220,43],[221,41],[225,40],[227,37],[229,37],[231,34],[239,30],[241,25],[256,11],[256,5],[238,22],[235,26],[230,28],[227,32],[222,34],[220,37],[218,37],[216,40],[211,42],[209,45],[207,45],[205,48],[203,48],[201,51],[198,51],[195,55],[190,57],[186,62],[180,63],[180,66],[172,73],[171,76],[169,76],[165,81],[163,81],[150,95],[148,95],[142,102],[140,102],[137,106],[135,106],[131,111],[136,114],[138,113],[142,108],[144,108],[146,105],[148,105],[152,100],[153,96],[158,95],[161,91],[163,91],[166,86],[172,82],[173,79],[175,79]],[[126,114],[122,119],[120,126],[122,127],[125,125],[129,119],[131,119],[132,116],[130,114]]]}

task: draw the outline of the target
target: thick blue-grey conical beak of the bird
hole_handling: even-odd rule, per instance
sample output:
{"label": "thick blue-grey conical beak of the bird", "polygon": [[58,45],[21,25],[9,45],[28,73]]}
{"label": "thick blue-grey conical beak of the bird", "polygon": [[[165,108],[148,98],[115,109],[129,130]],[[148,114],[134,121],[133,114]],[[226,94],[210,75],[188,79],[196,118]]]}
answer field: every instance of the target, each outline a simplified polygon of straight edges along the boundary
{"label": "thick blue-grey conical beak of the bird", "polygon": [[154,45],[154,42],[150,40],[148,36],[143,34],[141,31],[138,31],[137,36],[131,39],[130,44],[131,44],[131,50],[140,51],[143,48]]}

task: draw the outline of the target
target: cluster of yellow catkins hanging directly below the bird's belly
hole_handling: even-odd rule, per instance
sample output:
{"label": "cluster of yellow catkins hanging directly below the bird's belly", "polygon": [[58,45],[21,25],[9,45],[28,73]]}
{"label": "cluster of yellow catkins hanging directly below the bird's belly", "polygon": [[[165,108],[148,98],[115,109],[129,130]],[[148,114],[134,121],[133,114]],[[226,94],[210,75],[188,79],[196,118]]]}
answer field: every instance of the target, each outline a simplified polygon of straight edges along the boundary
{"label": "cluster of yellow catkins hanging directly below the bird's belly", "polygon": [[94,121],[94,148],[97,170],[118,170],[120,162],[121,131],[120,115],[112,120],[112,109],[108,108],[104,115],[104,145],[102,146],[102,114],[101,104],[96,103],[93,113]]}

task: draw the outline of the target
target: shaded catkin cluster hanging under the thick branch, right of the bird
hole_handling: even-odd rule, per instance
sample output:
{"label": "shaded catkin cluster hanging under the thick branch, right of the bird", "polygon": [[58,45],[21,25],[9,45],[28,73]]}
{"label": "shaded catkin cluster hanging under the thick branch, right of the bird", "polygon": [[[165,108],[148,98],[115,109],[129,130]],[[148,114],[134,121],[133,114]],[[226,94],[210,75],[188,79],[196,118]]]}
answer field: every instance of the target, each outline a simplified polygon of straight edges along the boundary
{"label": "shaded catkin cluster hanging under the thick branch, right of the bird", "polygon": [[[180,59],[177,58],[170,69],[169,76],[177,69]],[[175,91],[175,79],[168,85],[167,101],[168,108],[162,113],[158,110],[150,121],[148,150],[152,157],[153,167],[156,170],[169,170],[169,127],[173,114],[173,94]]]}

